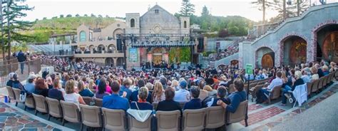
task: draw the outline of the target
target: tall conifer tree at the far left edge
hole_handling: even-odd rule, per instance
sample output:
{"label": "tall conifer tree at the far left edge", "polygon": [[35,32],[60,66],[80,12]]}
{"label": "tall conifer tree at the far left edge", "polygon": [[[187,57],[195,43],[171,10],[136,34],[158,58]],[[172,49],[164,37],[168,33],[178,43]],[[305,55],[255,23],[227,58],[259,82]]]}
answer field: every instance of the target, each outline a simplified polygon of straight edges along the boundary
{"label": "tall conifer tree at the far left edge", "polygon": [[[25,12],[33,10],[33,8],[22,4],[16,4],[13,0],[7,0],[6,9],[4,9],[4,22],[2,24],[4,26],[4,34],[2,34],[4,38],[4,46],[3,55],[5,52],[5,48],[8,49],[8,55],[11,56],[11,42],[21,43],[23,41],[31,41],[31,36],[26,36],[24,34],[18,33],[18,31],[26,31],[28,28],[33,26],[34,22],[23,21],[22,18],[27,16]],[[5,24],[5,22],[7,24]],[[5,47],[6,46],[6,47]]]}

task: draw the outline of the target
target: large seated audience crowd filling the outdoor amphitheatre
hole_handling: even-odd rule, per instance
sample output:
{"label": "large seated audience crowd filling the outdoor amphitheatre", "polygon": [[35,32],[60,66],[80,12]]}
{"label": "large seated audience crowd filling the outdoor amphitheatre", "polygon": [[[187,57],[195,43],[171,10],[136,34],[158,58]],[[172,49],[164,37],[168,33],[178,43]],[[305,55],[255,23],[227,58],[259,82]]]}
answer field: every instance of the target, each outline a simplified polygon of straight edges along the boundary
{"label": "large seated audience crowd filling the outdoor amphitheatre", "polygon": [[[297,85],[317,80],[337,69],[335,63],[302,63],[278,68],[256,68],[254,75],[245,70],[223,66],[221,68],[196,68],[195,70],[138,70],[96,66],[91,62],[73,62],[54,56],[37,55],[44,64],[55,67],[55,73],[43,70],[42,77],[31,73],[25,85],[18,75],[9,73],[7,85],[66,102],[87,104],[83,97],[103,99],[103,108],[153,110],[195,110],[220,105],[235,112],[247,100],[247,80],[270,79],[259,92],[269,94],[278,85],[283,92],[295,90]],[[233,85],[233,89],[230,89]],[[230,90],[233,90],[230,92]],[[267,98],[262,95],[263,102]],[[180,103],[185,103],[181,108]],[[286,98],[282,95],[281,105]]]}

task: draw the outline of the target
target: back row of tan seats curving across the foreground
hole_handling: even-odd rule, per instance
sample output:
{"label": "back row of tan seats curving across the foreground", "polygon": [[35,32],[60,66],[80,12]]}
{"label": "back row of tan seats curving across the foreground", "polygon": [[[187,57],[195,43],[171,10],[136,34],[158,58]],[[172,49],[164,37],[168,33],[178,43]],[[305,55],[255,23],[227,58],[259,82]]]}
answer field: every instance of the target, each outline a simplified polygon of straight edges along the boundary
{"label": "back row of tan seats curving across the foreground", "polygon": [[[16,100],[17,105],[20,95],[18,91],[20,90],[11,87],[7,87],[7,90],[9,91],[9,97]],[[93,100],[98,106],[78,105],[33,94],[33,97],[26,98],[24,104],[25,110],[26,107],[35,108],[35,115],[38,112],[48,113],[48,120],[51,117],[61,118],[62,125],[65,125],[66,121],[80,122],[81,130],[83,125],[87,127],[103,127],[103,130],[151,130],[151,120],[157,121],[157,130],[203,130],[205,128],[222,127],[227,123],[235,123],[242,120],[245,120],[247,126],[247,100],[240,103],[235,113],[226,112],[220,106],[200,110],[183,110],[182,117],[180,110],[157,111],[155,115],[151,115],[145,122],[139,122],[126,115],[124,110],[101,108],[101,99],[94,98]],[[91,101],[88,102],[91,103]],[[153,103],[153,105],[157,107],[158,103]],[[180,105],[183,106],[184,104],[180,103]]]}

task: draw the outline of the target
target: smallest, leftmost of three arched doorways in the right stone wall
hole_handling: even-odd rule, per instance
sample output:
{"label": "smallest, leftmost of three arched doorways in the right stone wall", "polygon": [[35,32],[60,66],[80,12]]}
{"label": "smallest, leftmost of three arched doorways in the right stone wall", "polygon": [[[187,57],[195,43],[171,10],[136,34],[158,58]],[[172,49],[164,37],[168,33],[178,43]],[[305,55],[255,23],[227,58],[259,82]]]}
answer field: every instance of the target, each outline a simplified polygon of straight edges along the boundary
{"label": "smallest, leftmost of three arched doorways in the right stone wall", "polygon": [[256,66],[258,68],[273,68],[275,66],[275,53],[271,48],[259,48],[256,51],[256,56]]}

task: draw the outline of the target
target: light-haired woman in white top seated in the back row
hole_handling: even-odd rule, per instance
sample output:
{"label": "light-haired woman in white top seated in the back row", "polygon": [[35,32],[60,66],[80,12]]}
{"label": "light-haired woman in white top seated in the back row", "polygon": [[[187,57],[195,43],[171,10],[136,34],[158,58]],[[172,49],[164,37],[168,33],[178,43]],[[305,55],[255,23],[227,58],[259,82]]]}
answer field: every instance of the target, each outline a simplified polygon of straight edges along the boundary
{"label": "light-haired woman in white top seated in the back row", "polygon": [[79,95],[75,91],[74,80],[68,80],[66,82],[65,88],[66,88],[66,94],[64,95],[64,99],[66,102],[86,105],[81,95]]}

